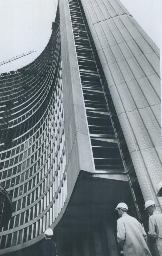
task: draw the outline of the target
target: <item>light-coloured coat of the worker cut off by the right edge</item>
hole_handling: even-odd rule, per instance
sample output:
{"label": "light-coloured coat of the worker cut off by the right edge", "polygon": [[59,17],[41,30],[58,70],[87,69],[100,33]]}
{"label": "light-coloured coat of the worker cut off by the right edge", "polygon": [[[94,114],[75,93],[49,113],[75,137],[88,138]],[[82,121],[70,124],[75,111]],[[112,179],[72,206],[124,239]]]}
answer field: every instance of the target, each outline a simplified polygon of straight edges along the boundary
{"label": "light-coloured coat of the worker cut off by the right edge", "polygon": [[156,239],[157,248],[162,256],[162,213],[154,211],[149,217],[149,235]]}

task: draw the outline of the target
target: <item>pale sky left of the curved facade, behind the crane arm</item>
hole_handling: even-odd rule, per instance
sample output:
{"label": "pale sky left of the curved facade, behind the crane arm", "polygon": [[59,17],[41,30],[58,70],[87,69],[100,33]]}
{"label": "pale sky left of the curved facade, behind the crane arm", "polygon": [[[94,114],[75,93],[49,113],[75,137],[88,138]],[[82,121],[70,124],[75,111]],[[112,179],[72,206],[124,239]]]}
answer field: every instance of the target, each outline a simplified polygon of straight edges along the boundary
{"label": "pale sky left of the curved facade, behind the crane arm", "polygon": [[0,62],[36,51],[0,66],[0,73],[32,62],[46,47],[57,0],[0,0]]}

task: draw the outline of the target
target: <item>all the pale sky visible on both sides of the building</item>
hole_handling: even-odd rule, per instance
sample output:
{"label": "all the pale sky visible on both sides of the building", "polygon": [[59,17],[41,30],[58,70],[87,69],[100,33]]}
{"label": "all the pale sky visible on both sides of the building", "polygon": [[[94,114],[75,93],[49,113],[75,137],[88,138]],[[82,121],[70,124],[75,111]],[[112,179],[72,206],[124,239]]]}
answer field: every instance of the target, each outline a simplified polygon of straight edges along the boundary
{"label": "all the pale sky visible on both sides of the building", "polygon": [[[159,0],[121,0],[159,47]],[[32,62],[46,47],[57,0],[0,0],[0,62],[35,52],[0,66],[0,73]],[[139,7],[141,6],[141,7]]]}

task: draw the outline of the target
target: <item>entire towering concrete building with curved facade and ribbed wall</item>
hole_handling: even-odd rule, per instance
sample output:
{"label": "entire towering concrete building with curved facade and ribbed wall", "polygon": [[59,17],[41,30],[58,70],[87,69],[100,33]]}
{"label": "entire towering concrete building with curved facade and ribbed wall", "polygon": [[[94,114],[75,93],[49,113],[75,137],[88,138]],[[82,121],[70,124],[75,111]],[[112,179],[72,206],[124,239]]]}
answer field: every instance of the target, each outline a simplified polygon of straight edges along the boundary
{"label": "entire towering concrete building with curved facade and ribbed wall", "polygon": [[60,0],[42,54],[0,74],[0,255],[117,256],[124,201],[147,229],[162,180],[159,49],[119,0]]}

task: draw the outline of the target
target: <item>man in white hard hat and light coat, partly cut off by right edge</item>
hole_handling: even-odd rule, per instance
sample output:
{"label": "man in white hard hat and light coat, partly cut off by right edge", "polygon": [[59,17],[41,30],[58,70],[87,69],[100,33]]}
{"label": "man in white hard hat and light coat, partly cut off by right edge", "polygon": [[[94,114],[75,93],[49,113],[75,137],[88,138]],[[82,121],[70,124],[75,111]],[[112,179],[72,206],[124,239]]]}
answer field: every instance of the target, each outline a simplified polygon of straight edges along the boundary
{"label": "man in white hard hat and light coat, partly cut off by right edge", "polygon": [[159,255],[162,256],[162,213],[156,210],[156,204],[153,200],[145,202],[145,210],[149,214],[149,232],[150,238],[156,240]]}

